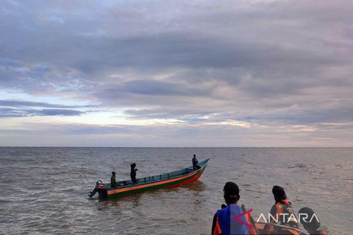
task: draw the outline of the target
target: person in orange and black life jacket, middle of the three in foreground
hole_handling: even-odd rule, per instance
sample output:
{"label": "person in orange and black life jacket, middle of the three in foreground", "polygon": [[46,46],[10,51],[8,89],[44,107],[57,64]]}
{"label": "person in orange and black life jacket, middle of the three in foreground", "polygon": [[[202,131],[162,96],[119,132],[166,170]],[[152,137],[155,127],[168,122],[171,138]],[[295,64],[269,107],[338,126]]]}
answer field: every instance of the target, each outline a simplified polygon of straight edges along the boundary
{"label": "person in orange and black life jacket, middle of the three in foreground", "polygon": [[[278,222],[274,221],[274,219],[272,218],[269,218],[268,222],[298,229],[299,228],[298,219],[295,217],[291,203],[287,201],[287,195],[284,188],[277,185],[273,186],[272,193],[276,203],[272,206],[270,214],[276,220],[278,218]],[[285,213],[287,213],[288,215],[285,215],[283,218],[283,215],[280,215],[280,214],[285,214]],[[266,225],[264,229],[267,229],[267,228],[268,228],[268,225]],[[298,232],[296,232],[295,230],[282,229],[282,228],[280,229],[282,230],[283,233],[298,234]]]}

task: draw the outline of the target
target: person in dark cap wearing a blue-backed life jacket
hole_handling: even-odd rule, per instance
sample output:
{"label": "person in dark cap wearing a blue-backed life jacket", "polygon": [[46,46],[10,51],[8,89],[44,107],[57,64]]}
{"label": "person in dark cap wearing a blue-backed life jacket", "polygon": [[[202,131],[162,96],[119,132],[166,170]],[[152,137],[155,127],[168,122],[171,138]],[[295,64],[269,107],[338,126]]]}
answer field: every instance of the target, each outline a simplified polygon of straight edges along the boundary
{"label": "person in dark cap wearing a blue-backed life jacket", "polygon": [[[234,216],[242,214],[244,211],[237,202],[240,198],[239,187],[233,182],[227,182],[223,189],[224,199],[227,205],[222,205],[221,210],[217,210],[213,217],[212,233],[211,235],[256,235],[255,228],[249,228],[244,224],[232,219]],[[238,218],[239,220],[251,224],[249,214],[245,214]]]}

